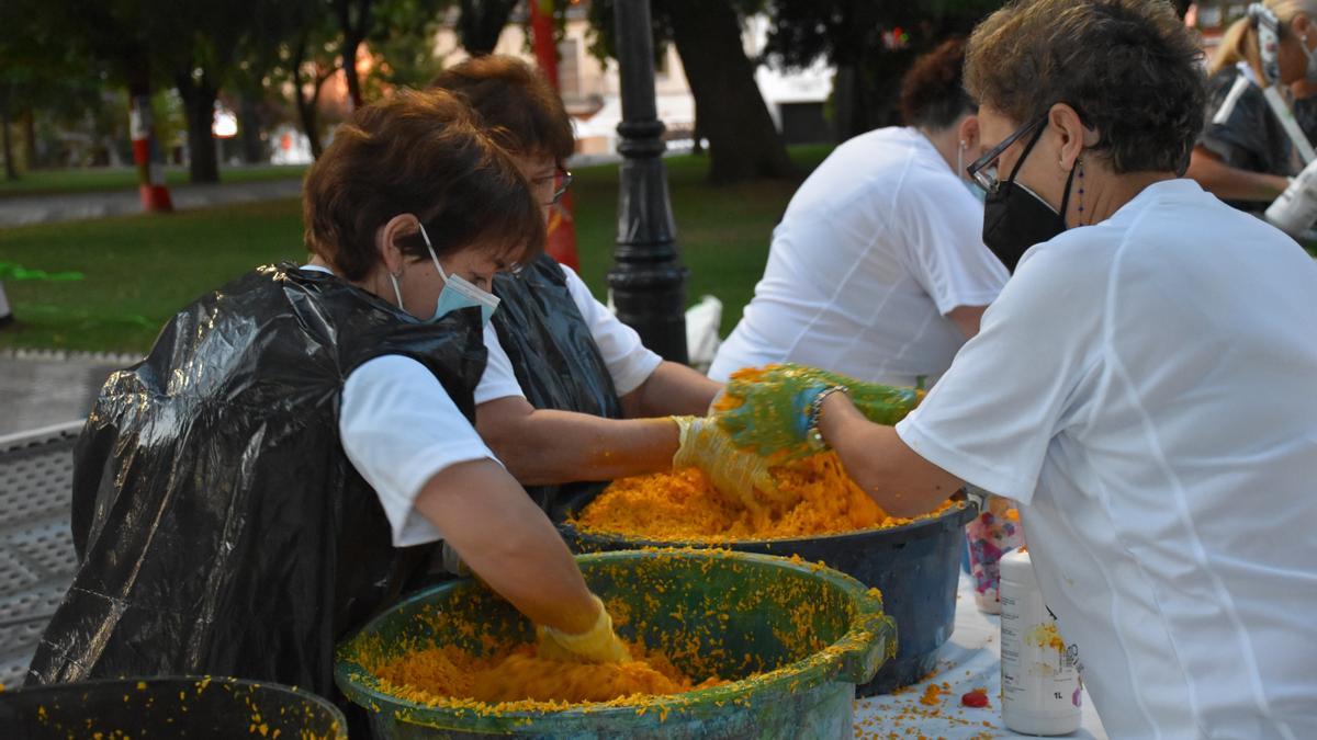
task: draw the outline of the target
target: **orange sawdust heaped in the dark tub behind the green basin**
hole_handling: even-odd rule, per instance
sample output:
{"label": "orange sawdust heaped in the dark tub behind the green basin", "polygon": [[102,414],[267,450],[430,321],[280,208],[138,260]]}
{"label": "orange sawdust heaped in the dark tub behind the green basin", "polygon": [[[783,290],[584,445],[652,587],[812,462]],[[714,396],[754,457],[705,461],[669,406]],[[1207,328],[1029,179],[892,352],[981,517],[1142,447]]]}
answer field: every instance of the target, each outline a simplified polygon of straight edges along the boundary
{"label": "orange sawdust heaped in the dark tub behind the green basin", "polygon": [[[909,524],[888,516],[861,490],[836,453],[823,453],[774,469],[781,500],[751,511],[724,496],[697,469],[622,478],[573,520],[587,532],[664,541],[731,541],[832,535]],[[928,516],[942,514],[944,502]]]}

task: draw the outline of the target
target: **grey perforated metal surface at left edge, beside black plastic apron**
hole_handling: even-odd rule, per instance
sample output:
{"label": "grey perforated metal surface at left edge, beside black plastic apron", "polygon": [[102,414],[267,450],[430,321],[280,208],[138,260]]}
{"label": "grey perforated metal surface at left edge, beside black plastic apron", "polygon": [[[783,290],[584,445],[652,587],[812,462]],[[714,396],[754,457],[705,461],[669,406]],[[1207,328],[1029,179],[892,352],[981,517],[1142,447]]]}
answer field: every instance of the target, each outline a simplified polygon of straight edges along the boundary
{"label": "grey perforated metal surface at left edge, beside black plastic apron", "polygon": [[0,683],[22,683],[76,570],[68,531],[82,421],[0,438]]}

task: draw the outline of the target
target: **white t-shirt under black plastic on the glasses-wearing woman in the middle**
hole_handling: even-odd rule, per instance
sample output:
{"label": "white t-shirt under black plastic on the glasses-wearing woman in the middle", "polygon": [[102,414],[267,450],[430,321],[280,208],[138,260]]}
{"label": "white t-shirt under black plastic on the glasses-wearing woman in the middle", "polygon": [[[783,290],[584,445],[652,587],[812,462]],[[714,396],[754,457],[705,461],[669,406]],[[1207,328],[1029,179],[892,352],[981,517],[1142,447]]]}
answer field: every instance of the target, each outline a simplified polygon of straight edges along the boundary
{"label": "white t-shirt under black plastic on the glasses-wearing woman in the middle", "polygon": [[[590,295],[590,288],[572,267],[564,265],[562,273],[566,275],[572,300],[581,311],[586,325],[590,327],[590,336],[599,348],[599,354],[608,367],[618,395],[624,396],[639,388],[662,363],[662,357],[645,349],[635,329],[619,321],[607,305],[595,300]],[[520,383],[516,382],[516,374],[512,371],[512,361],[498,341],[498,332],[494,330],[493,324],[485,327],[485,349],[489,350],[489,359],[485,365],[485,375],[475,386],[475,404],[507,396],[525,396]]]}

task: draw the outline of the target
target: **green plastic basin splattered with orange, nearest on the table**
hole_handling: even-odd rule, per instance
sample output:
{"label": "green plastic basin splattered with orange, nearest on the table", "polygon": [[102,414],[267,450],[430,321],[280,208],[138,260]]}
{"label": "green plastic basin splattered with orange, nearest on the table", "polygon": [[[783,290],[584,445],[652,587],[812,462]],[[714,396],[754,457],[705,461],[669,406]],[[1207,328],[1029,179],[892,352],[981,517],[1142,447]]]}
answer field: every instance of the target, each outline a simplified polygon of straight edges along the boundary
{"label": "green plastic basin splattered with orange, nearest on the table", "polygon": [[[579,556],[618,632],[664,652],[693,679],[731,683],[562,711],[425,706],[390,697],[362,656],[454,644],[477,654],[533,639],[531,624],[464,579],[394,606],[338,647],[335,679],[369,710],[377,737],[851,737],[855,685],[896,653],[882,599],[818,565],[731,550]],[[369,661],[367,661],[369,662]],[[757,675],[753,675],[757,674]]]}

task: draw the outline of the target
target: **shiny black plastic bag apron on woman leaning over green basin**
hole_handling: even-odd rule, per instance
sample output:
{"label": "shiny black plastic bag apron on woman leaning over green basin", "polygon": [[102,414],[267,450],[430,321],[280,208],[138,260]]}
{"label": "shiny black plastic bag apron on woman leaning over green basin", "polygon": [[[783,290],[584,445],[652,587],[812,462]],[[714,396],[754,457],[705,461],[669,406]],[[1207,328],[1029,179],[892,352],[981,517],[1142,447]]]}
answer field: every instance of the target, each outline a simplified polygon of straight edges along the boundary
{"label": "shiny black plastic bag apron on woman leaning over green basin", "polygon": [[421,362],[471,419],[474,308],[416,324],[281,266],[179,312],[111,375],[78,442],[82,566],[29,681],[216,674],[332,697],[335,643],[433,549],[391,545],[338,440],[345,378],[385,354]]}

